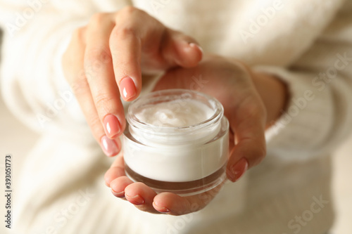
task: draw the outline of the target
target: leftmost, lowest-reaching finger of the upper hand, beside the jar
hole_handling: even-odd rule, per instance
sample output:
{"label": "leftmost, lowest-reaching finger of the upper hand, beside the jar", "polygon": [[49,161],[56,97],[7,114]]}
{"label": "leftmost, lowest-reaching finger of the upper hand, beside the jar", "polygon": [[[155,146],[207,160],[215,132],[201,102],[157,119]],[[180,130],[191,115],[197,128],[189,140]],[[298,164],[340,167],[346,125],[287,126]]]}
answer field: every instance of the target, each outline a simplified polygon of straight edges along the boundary
{"label": "leftmost, lowest-reaching finger of the upper hand, beside the jar", "polygon": [[[98,113],[96,112],[91,89],[84,72],[84,33],[85,29],[80,28],[73,34],[70,45],[67,49],[67,51],[69,51],[68,57],[70,58],[70,63],[72,65],[70,66],[70,71],[65,73],[65,77],[68,79],[78,103],[80,103],[80,107],[84,117],[87,119],[90,129],[92,130],[94,138],[100,143],[101,148],[106,155],[117,155],[121,148],[120,140],[111,140],[105,136],[103,126],[101,125]],[[65,56],[64,58],[68,59],[68,57]]]}

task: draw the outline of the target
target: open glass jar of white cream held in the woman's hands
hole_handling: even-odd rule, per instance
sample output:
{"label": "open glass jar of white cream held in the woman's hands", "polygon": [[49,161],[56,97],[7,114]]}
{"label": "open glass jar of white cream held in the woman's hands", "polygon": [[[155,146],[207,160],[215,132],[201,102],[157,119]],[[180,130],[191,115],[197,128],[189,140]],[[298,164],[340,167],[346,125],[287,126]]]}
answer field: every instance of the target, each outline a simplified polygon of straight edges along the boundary
{"label": "open glass jar of white cream held in the woman's hands", "polygon": [[125,172],[157,193],[203,193],[226,178],[229,123],[221,103],[196,91],[149,93],[128,108]]}

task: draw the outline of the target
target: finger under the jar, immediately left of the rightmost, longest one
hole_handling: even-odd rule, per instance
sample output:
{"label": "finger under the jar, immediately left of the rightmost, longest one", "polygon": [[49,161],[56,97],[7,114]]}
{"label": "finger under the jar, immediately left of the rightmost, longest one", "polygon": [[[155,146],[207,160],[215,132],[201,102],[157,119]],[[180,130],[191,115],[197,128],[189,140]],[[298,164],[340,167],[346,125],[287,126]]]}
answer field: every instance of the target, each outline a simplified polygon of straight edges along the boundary
{"label": "finger under the jar, immediately left of the rightmost, longest one", "polygon": [[156,192],[141,182],[132,183],[125,188],[126,199],[144,212],[158,213],[153,207],[155,196]]}

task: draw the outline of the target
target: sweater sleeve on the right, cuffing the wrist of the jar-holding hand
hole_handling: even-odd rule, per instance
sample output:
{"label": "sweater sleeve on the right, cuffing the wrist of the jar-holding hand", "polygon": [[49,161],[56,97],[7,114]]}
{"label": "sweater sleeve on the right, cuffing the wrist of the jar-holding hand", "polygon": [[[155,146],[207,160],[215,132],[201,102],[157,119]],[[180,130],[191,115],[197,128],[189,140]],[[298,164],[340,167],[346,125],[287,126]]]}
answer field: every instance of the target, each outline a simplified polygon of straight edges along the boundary
{"label": "sweater sleeve on the right, cuffing the wrist of the jar-holding hand", "polygon": [[309,160],[329,154],[351,133],[351,8],[343,8],[294,64],[256,67],[275,74],[289,87],[286,110],[266,132],[268,155]]}

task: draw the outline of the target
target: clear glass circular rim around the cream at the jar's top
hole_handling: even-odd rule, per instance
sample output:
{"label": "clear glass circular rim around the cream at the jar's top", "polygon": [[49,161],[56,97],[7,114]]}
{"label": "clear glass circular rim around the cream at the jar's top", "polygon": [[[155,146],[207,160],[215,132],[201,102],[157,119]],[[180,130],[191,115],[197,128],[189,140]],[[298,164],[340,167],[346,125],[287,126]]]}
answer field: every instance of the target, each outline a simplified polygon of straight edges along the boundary
{"label": "clear glass circular rim around the cream at the jar's top", "polygon": [[[156,126],[154,124],[142,122],[136,117],[136,115],[134,115],[134,111],[143,105],[168,102],[172,100],[206,100],[208,107],[212,108],[214,112],[213,115],[208,117],[208,119],[189,126]],[[196,129],[206,128],[207,126],[211,126],[218,122],[218,120],[223,116],[223,110],[224,109],[219,100],[212,96],[208,96],[205,93],[189,89],[165,89],[148,93],[142,97],[139,97],[137,100],[134,100],[128,108],[127,122],[130,126],[132,125],[141,131],[147,131],[149,133],[153,131],[154,134],[158,135],[184,134],[184,132],[196,131]],[[175,129],[177,129],[177,131],[175,131]]]}

